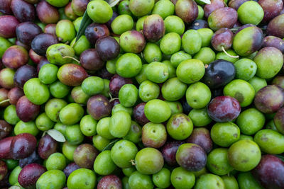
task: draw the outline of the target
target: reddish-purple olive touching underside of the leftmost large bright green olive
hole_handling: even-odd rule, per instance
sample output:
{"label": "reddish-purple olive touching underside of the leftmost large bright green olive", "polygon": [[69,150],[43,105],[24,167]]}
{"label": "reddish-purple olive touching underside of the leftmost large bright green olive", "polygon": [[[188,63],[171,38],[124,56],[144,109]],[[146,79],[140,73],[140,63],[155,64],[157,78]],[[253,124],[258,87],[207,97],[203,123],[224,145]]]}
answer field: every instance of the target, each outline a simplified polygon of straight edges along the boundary
{"label": "reddish-purple olive touching underside of the leftmost large bright green olive", "polygon": [[26,96],[22,96],[16,104],[16,113],[20,120],[29,122],[34,120],[38,116],[38,113],[40,113],[40,105],[35,105],[31,101],[28,101]]}

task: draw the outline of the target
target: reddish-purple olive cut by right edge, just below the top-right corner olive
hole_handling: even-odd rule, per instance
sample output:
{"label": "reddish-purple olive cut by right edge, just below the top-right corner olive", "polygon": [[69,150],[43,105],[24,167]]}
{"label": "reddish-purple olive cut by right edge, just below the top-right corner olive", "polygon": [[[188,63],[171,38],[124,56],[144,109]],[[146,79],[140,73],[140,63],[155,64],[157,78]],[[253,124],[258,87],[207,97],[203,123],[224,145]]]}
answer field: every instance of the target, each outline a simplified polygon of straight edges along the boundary
{"label": "reddish-purple olive cut by right edge, just below the top-right corner olive", "polygon": [[273,18],[267,25],[266,35],[273,35],[278,38],[284,38],[284,14]]}

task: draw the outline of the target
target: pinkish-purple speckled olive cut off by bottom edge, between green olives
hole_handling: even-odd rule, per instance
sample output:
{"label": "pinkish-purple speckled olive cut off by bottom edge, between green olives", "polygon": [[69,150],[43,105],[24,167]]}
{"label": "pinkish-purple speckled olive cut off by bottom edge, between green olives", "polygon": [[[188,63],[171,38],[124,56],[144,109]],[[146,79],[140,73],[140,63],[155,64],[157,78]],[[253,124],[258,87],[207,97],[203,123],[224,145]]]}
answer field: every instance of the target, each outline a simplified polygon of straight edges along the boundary
{"label": "pinkish-purple speckled olive cut off by bottom edge, between green olives", "polygon": [[122,189],[120,178],[115,175],[104,176],[101,180],[99,180],[97,189],[107,188]]}

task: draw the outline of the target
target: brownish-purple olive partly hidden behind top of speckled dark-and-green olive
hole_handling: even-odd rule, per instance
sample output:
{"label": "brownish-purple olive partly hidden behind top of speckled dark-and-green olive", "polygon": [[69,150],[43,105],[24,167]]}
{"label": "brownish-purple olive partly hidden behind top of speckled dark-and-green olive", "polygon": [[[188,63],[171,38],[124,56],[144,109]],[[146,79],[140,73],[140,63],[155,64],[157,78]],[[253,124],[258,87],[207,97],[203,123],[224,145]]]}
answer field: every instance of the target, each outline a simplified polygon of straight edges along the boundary
{"label": "brownish-purple olive partly hidden behind top of speckled dark-and-green olive", "polygon": [[207,154],[212,150],[213,142],[209,130],[204,127],[195,128],[190,137],[186,139],[186,142],[199,145]]}

